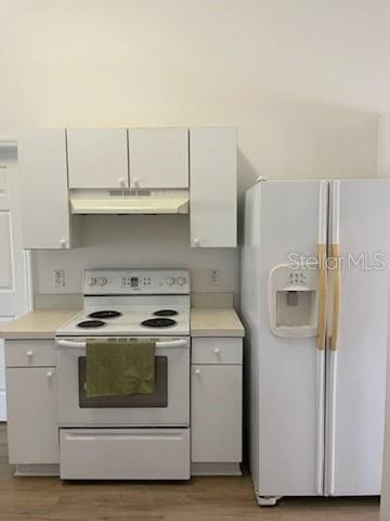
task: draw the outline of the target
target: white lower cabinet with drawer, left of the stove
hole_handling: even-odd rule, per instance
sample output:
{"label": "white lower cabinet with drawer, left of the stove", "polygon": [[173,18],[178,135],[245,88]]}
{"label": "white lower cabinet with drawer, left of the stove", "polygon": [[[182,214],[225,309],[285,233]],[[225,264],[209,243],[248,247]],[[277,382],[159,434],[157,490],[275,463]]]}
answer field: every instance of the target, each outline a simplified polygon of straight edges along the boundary
{"label": "white lower cabinet with drawer, left of the stove", "polygon": [[55,346],[52,340],[6,340],[10,463],[16,474],[58,473]]}

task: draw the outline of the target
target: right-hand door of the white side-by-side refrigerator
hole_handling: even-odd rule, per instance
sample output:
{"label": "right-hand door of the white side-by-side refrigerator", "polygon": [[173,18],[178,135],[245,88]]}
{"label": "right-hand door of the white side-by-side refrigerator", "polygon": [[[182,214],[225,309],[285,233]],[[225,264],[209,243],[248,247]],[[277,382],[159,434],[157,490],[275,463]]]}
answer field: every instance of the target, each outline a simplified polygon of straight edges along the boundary
{"label": "right-hand door of the white side-by-side refrigerator", "polygon": [[[339,243],[347,258],[341,263],[338,342],[336,351],[328,351],[329,495],[380,494],[389,269],[380,269],[375,255],[384,255],[389,265],[389,201],[388,179],[332,183],[330,242]],[[335,280],[333,270],[329,276]]]}

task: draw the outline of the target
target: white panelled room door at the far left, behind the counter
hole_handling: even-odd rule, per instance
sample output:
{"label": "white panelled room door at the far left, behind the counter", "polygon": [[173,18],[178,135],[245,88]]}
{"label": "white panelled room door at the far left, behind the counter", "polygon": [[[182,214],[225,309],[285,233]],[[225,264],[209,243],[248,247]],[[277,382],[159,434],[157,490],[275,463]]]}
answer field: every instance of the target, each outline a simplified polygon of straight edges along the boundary
{"label": "white panelled room door at the far left, behind the counter", "polygon": [[[16,150],[0,144],[0,327],[28,308],[16,161]],[[0,421],[5,419],[4,345],[0,340]]]}

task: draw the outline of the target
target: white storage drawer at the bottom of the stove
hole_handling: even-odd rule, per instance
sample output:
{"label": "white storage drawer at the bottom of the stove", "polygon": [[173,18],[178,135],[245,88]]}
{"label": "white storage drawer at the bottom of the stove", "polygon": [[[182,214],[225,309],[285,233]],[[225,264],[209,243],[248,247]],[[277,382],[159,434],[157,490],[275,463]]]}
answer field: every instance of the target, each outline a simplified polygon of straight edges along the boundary
{"label": "white storage drawer at the bottom of the stove", "polygon": [[61,429],[63,480],[188,480],[190,429]]}

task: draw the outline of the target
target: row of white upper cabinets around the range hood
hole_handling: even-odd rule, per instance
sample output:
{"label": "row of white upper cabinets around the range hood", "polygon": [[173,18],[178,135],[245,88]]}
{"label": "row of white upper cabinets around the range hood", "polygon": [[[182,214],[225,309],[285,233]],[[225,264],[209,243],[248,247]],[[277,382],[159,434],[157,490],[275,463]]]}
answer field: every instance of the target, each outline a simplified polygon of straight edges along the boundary
{"label": "row of white upper cabinets around the range hood", "polygon": [[88,194],[92,202],[106,198],[115,212],[117,201],[107,192],[120,189],[133,190],[131,195],[156,190],[152,195],[161,201],[184,191],[179,195],[185,203],[190,195],[191,245],[237,245],[233,127],[36,129],[20,137],[18,158],[25,249],[76,246],[74,214],[82,212],[75,201],[82,201],[82,190],[95,190]]}

